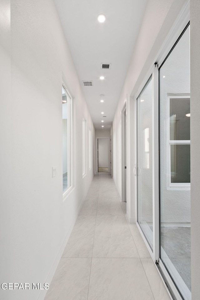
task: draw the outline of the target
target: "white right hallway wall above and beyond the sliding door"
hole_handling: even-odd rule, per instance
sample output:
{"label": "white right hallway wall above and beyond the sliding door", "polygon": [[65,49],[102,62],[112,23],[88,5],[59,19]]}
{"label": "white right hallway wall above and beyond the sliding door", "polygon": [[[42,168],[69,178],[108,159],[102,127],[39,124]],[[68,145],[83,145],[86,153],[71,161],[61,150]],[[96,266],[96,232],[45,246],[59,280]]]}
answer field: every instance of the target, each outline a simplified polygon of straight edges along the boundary
{"label": "white right hallway wall above and beyond the sliding door", "polygon": [[113,179],[121,192],[121,110],[127,99],[127,215],[135,222],[134,97],[185,0],[149,0],[113,120]]}

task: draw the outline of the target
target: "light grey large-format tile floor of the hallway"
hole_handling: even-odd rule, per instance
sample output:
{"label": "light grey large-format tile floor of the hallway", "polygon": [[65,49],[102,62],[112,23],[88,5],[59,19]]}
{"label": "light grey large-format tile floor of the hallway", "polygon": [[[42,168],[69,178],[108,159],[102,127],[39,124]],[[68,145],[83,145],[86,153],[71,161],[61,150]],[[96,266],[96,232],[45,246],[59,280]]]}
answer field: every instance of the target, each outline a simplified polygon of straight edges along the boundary
{"label": "light grey large-format tile floor of the hallway", "polygon": [[108,173],[95,175],[45,300],[170,300]]}

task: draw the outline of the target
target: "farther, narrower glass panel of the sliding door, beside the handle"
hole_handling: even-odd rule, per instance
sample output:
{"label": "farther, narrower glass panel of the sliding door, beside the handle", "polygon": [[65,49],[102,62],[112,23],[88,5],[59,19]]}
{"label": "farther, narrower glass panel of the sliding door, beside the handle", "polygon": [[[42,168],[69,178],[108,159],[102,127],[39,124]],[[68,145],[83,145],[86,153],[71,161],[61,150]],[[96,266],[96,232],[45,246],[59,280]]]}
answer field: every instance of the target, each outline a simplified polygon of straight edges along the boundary
{"label": "farther, narrower glass panel of the sliding door, beside the handle", "polygon": [[137,98],[137,218],[153,251],[153,79]]}

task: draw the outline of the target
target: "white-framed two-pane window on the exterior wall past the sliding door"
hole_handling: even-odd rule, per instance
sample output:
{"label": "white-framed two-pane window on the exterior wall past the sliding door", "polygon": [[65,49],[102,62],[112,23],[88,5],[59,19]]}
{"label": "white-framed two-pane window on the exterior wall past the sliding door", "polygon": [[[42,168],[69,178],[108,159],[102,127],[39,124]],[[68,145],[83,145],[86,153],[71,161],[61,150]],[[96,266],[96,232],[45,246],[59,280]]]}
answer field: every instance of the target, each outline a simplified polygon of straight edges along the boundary
{"label": "white-framed two-pane window on the exterior wall past the sliding door", "polygon": [[168,187],[190,187],[190,96],[168,96]]}

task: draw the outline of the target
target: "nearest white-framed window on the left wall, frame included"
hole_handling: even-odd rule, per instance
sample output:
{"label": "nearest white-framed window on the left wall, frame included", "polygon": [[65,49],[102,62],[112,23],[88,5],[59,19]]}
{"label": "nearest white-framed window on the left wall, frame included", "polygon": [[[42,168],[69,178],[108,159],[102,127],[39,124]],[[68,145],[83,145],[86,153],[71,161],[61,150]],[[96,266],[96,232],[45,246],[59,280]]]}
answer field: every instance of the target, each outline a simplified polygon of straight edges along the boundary
{"label": "nearest white-framed window on the left wall, frame included", "polygon": [[72,186],[72,97],[62,84],[63,107],[63,197]]}

